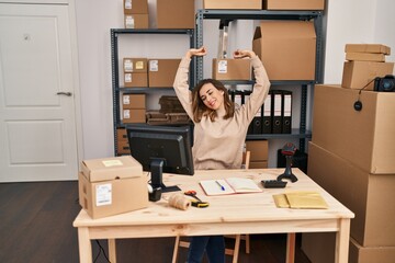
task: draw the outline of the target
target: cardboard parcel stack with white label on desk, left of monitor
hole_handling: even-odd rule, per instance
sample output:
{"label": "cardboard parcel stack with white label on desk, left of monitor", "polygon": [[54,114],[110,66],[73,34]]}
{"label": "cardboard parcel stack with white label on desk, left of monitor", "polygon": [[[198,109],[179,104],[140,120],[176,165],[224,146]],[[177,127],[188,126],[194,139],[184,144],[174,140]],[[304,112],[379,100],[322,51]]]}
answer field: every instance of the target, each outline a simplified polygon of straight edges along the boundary
{"label": "cardboard parcel stack with white label on desk, left of monitor", "polygon": [[81,170],[79,203],[93,219],[148,206],[147,179],[131,156],[84,160]]}

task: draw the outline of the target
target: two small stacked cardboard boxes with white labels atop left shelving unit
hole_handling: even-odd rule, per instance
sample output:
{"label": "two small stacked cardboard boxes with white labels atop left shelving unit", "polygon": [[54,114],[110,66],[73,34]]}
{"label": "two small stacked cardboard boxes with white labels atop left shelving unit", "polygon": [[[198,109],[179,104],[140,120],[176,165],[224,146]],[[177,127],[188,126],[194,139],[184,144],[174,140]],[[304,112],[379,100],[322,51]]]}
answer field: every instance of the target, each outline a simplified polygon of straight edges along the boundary
{"label": "two small stacked cardboard boxes with white labels atop left shelving unit", "polygon": [[125,28],[148,28],[148,1],[124,0]]}

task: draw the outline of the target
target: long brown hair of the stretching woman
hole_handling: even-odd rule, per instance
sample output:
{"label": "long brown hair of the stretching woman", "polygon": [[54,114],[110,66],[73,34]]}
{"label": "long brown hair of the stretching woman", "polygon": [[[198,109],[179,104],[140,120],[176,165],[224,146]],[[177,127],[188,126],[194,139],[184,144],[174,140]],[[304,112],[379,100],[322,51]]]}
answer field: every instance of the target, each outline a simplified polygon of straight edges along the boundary
{"label": "long brown hair of the stretching woman", "polygon": [[192,90],[193,121],[195,123],[200,123],[203,116],[208,116],[210,119],[214,122],[217,117],[216,111],[208,108],[206,105],[204,105],[199,93],[202,87],[207,83],[212,83],[217,90],[222,90],[224,92],[224,107],[226,112],[224,119],[233,117],[235,115],[235,103],[232,102],[225,85],[221,81],[215,79],[204,79],[201,80]]}

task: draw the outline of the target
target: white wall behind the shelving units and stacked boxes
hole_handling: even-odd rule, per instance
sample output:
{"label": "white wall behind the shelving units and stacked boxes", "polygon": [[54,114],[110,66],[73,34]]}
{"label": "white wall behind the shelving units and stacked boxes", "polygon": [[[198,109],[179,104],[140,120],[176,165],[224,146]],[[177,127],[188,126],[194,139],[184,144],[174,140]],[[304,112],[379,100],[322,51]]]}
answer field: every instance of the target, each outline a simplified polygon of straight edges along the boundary
{"label": "white wall behind the shelving units and stacked boxes", "polygon": [[[81,89],[81,108],[83,122],[84,159],[113,156],[113,117],[112,117],[112,82],[111,82],[111,47],[110,28],[123,28],[122,0],[117,1],[76,1],[77,31],[79,46],[79,69]],[[154,26],[156,0],[148,0],[150,25]],[[340,83],[342,64],[345,61],[346,43],[382,43],[395,48],[395,35],[392,25],[395,24],[392,0],[327,0],[326,10],[326,50],[325,50],[325,83]],[[196,8],[201,8],[201,0]],[[229,27],[229,52],[235,48],[251,48],[253,24],[249,21],[238,21]],[[218,22],[204,22],[204,45],[208,49],[205,58],[204,77],[211,76],[211,58],[216,56],[218,39]],[[159,43],[158,43],[159,42]],[[180,42],[183,42],[180,39]],[[147,43],[154,46],[146,46]],[[128,50],[129,56],[142,57],[181,57],[188,45],[185,42],[177,45],[143,41],[144,48]],[[147,49],[148,48],[148,49]],[[154,50],[154,54],[153,54]],[[394,55],[388,61],[394,61]],[[295,89],[294,111],[300,111],[297,89]],[[312,100],[313,94],[309,94]],[[307,108],[312,108],[312,104]],[[298,116],[294,114],[293,127],[298,126]],[[308,114],[307,119],[311,119]],[[271,140],[269,147],[278,149],[284,140]],[[293,141],[298,144],[298,141]],[[269,165],[275,165],[275,151],[270,152]]]}

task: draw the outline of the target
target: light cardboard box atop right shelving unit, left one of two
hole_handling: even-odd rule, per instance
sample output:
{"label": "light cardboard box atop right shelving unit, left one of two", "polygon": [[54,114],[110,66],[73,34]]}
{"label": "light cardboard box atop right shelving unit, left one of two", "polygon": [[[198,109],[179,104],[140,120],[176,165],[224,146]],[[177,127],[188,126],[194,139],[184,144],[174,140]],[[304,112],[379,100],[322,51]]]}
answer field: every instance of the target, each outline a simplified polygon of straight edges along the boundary
{"label": "light cardboard box atop right shelving unit, left one of two", "polygon": [[261,10],[262,0],[204,0],[204,9],[251,9]]}

